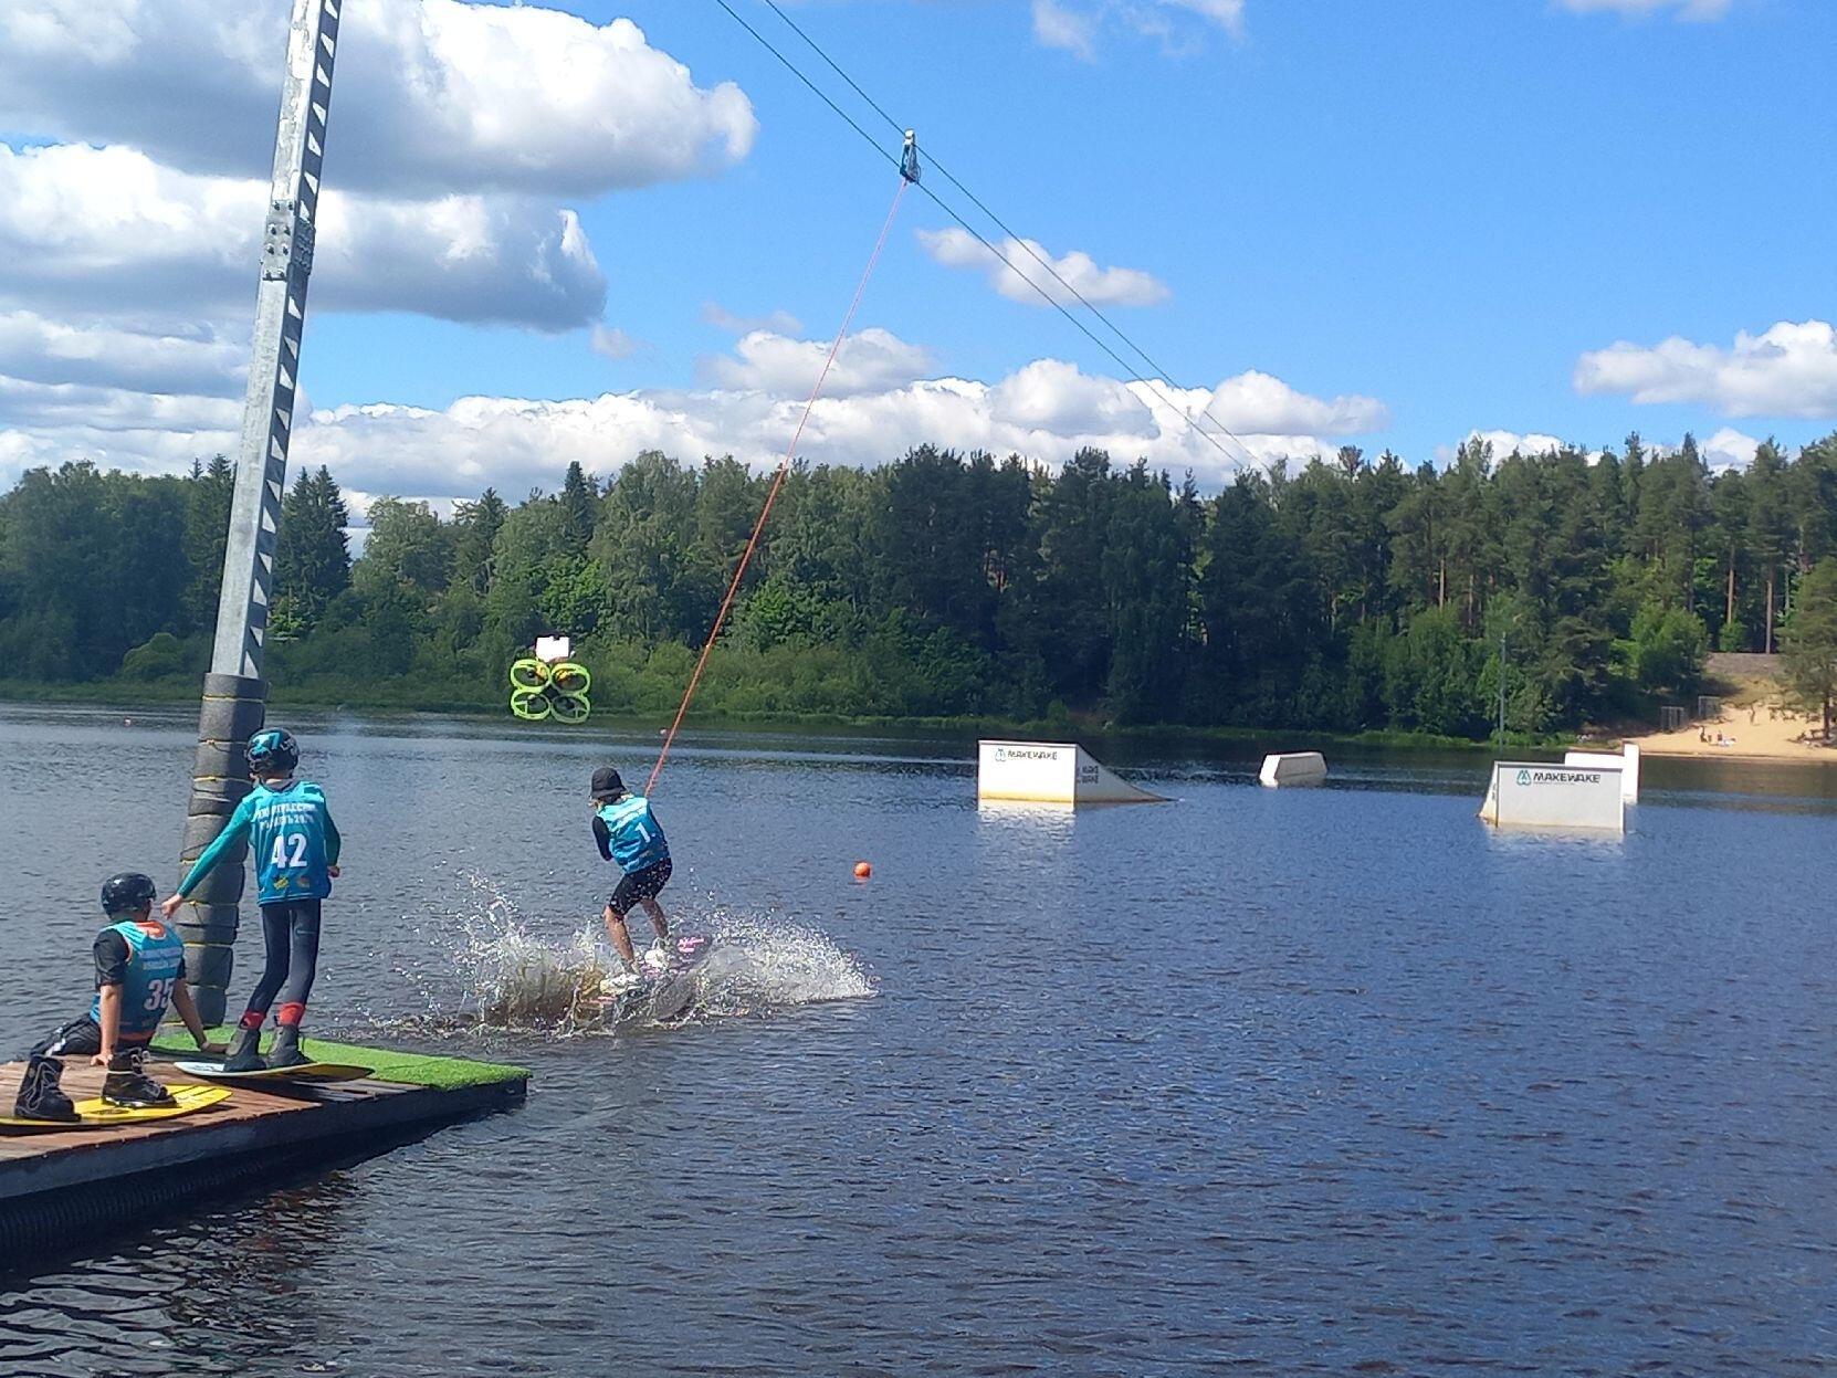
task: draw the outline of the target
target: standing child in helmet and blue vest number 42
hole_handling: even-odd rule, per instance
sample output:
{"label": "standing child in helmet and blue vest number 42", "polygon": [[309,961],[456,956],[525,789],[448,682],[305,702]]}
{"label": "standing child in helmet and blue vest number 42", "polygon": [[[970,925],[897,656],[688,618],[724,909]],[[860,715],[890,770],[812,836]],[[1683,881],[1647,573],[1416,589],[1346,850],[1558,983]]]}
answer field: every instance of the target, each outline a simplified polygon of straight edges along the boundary
{"label": "standing child in helmet and blue vest number 42", "polygon": [[[259,731],[248,739],[248,774],[255,781],[230,814],[217,840],[204,849],[191,873],[160,909],[167,919],[180,902],[242,838],[261,882],[261,937],[266,950],[261,979],[230,1040],[224,1071],[301,1067],[310,1058],[299,1051],[299,1022],[320,961],[320,902],[332,893],[338,875],[340,838],[325,792],[309,779],[294,779],[299,744],[285,731]],[[281,998],[277,1029],[268,1056],[261,1055],[261,1025],[274,998]]]}

